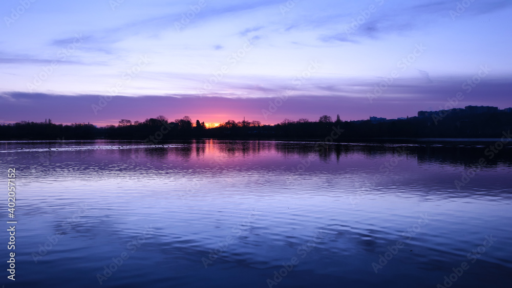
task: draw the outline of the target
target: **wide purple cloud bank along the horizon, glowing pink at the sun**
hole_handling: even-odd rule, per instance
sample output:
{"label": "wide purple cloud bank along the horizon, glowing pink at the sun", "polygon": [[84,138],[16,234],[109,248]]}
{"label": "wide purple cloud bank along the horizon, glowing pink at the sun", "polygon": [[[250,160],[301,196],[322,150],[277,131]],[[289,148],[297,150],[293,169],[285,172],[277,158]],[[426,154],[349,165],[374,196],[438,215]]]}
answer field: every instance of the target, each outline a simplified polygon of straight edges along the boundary
{"label": "wide purple cloud bank along the horizon, glowing pink at the sun", "polygon": [[[225,85],[233,93],[212,92],[208,97],[201,94],[115,96],[98,114],[93,112],[91,105],[98,105],[100,95],[4,92],[0,93],[1,117],[7,122],[43,121],[50,117],[56,123],[94,124],[115,124],[119,119],[144,120],[157,115],[169,119],[189,115],[216,123],[244,116],[264,123],[279,123],[284,118],[316,119],[324,114],[340,114],[345,120],[367,119],[368,115],[396,118],[415,116],[419,110],[429,107],[438,109],[458,92],[464,93],[464,98],[456,105],[458,107],[492,105],[506,108],[510,106],[509,91],[512,90],[509,77],[486,78],[471,93],[461,87],[467,77],[436,79],[433,83],[425,83],[424,78],[397,79],[382,95],[373,99],[373,103],[369,103],[367,93],[374,89],[379,79],[343,82],[339,79],[310,79],[310,84],[301,86],[288,85],[283,79],[271,80],[270,77],[258,80],[265,84],[254,84],[254,79],[229,82]],[[293,92],[271,117],[265,119],[262,109],[268,109],[269,101],[285,95],[287,88]]]}

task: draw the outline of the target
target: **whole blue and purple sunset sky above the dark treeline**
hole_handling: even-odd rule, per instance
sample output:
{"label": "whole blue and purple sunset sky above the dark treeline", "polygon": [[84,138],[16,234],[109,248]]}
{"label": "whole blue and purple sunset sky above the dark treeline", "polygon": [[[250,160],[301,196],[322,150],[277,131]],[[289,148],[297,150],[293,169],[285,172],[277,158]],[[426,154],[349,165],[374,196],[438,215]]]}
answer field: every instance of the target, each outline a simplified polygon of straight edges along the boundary
{"label": "whole blue and purple sunset sky above the dark treeline", "polygon": [[0,16],[0,123],[512,106],[509,0],[4,0]]}

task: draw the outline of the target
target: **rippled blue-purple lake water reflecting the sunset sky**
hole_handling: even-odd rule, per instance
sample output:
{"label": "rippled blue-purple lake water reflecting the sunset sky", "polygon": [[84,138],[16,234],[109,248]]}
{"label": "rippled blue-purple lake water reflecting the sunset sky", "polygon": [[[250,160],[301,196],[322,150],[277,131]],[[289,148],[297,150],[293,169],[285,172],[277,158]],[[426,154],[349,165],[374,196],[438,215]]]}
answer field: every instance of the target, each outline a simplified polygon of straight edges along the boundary
{"label": "rippled blue-purple lake water reflecting the sunset sky", "polygon": [[512,148],[486,145],[0,142],[8,284],[509,287]]}

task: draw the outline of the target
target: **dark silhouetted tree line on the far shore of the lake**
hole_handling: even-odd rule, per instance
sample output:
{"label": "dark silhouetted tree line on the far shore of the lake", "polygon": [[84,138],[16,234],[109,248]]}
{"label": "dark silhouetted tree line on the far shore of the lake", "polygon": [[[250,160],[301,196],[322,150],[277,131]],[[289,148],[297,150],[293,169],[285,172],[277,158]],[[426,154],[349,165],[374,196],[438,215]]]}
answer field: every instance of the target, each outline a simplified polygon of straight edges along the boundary
{"label": "dark silhouetted tree line on the far shore of the lake", "polygon": [[[342,121],[328,115],[317,121],[301,118],[284,119],[281,123],[264,125],[260,121],[228,120],[217,127],[207,127],[188,116],[169,121],[164,116],[144,121],[121,119],[118,125],[97,127],[90,123],[70,125],[45,122],[2,124],[0,140],[142,140],[159,141],[179,139],[312,139],[323,140],[333,129],[343,130],[336,141],[374,138],[501,138],[512,128],[512,113],[449,114],[442,121],[429,117],[411,117],[374,123]],[[153,139],[153,140],[152,140]]]}

